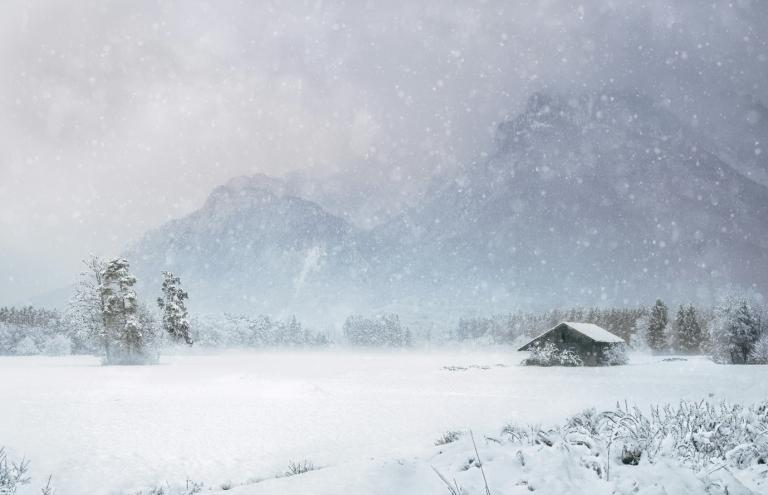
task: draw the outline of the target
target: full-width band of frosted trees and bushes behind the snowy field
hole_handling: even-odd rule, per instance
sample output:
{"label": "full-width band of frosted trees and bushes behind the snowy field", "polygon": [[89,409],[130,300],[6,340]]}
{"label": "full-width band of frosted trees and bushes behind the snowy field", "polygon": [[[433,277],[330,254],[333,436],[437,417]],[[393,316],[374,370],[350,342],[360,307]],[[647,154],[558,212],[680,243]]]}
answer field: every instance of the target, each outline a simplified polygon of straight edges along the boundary
{"label": "full-width band of frosted trees and bushes behind the snowy field", "polygon": [[[189,314],[179,277],[164,272],[157,309],[143,303],[122,258],[91,258],[65,312],[0,308],[0,354],[97,354],[105,364],[156,362],[162,348],[194,343],[198,349],[373,346],[450,343],[520,344],[561,321],[595,323],[623,338],[604,364],[625,364],[627,350],[706,354],[723,364],[768,363],[768,310],[748,297],[730,296],[714,307],[680,305],[573,308],[511,312],[458,321],[406,323],[395,313],[349,315],[338,327],[312,328],[295,316]],[[537,347],[529,364],[578,366],[578,356]]]}

